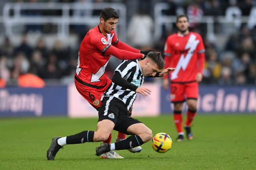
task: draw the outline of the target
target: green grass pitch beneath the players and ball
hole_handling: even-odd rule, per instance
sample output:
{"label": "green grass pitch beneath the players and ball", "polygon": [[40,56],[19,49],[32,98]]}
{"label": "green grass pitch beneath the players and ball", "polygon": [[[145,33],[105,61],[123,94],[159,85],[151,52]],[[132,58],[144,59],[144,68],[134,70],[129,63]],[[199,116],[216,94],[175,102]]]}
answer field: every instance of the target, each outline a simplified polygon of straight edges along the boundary
{"label": "green grass pitch beneath the players and ball", "polygon": [[[150,142],[142,152],[117,151],[122,160],[95,155],[100,143],[66,145],[54,161],[46,159],[51,138],[84,130],[96,130],[96,118],[67,117],[0,119],[1,170],[177,170],[177,169],[256,169],[256,115],[197,115],[194,139],[183,143],[177,137],[172,115],[138,117],[153,133],[165,132],[173,140],[166,153],[155,152]],[[185,117],[184,117],[185,120]],[[112,141],[116,138],[113,132]]]}

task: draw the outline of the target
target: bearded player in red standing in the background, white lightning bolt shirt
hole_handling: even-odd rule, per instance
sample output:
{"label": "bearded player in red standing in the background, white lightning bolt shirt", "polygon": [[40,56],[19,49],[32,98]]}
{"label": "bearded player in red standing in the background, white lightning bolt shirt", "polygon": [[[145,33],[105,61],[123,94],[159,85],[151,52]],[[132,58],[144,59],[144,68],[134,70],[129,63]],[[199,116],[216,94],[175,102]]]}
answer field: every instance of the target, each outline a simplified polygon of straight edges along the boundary
{"label": "bearded player in red standing in the background, white lightning bolt shirt", "polygon": [[[178,131],[177,141],[184,140],[182,129],[182,107],[187,102],[188,111],[185,123],[187,139],[193,139],[191,123],[196,115],[198,82],[202,80],[204,69],[204,43],[198,33],[188,30],[188,17],[184,14],[177,17],[178,33],[170,35],[164,47],[165,68],[176,67],[169,74],[171,102],[174,103],[174,123]],[[164,76],[164,89],[169,86],[168,75]]]}

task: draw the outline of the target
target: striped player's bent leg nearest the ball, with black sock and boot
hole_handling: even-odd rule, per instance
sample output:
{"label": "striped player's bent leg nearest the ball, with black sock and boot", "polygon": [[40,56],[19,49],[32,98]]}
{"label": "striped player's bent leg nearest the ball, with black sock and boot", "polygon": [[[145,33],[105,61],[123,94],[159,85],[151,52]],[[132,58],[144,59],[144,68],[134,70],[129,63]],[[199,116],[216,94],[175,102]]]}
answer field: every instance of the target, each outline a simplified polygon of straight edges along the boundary
{"label": "striped player's bent leg nearest the ball, with black sock and boot", "polygon": [[111,143],[109,146],[97,147],[96,155],[100,155],[102,152],[108,152],[109,150],[124,150],[138,147],[152,139],[152,131],[146,125],[131,117],[116,126],[115,129],[126,131],[127,134],[132,135],[123,141]]}

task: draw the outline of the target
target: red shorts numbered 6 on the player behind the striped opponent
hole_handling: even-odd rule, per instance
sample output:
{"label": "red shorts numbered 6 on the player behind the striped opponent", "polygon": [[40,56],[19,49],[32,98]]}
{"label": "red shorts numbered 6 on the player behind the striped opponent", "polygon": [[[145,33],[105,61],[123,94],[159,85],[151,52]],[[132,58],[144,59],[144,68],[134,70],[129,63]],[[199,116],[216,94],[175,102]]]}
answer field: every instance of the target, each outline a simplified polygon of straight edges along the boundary
{"label": "red shorts numbered 6 on the player behind the striped opponent", "polygon": [[97,89],[81,84],[75,79],[76,89],[95,109],[98,109],[100,107],[101,96],[108,89],[108,86],[110,84],[111,81],[108,81],[108,84],[106,84],[106,86]]}

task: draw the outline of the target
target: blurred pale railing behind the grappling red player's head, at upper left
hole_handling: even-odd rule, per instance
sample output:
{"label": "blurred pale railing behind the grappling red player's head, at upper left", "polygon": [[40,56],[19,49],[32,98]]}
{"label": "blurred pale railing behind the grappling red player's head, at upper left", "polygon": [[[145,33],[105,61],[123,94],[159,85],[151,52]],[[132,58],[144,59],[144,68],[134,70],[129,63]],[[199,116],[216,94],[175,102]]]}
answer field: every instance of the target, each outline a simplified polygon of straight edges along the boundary
{"label": "blurred pale railing behind the grappling red player's head, at upper left", "polygon": [[[126,6],[121,3],[90,3],[90,2],[74,2],[74,3],[6,3],[3,8],[3,22],[6,27],[6,35],[13,35],[15,32],[12,27],[15,25],[30,25],[30,24],[46,24],[51,23],[58,25],[57,34],[59,38],[67,38],[70,34],[70,25],[97,25],[99,23],[99,14],[92,15],[93,10],[102,10],[111,6],[118,11],[119,17],[122,20],[118,21],[116,32],[119,37],[126,41]],[[58,15],[26,15],[25,10],[60,10]],[[80,14],[70,15],[70,10],[78,11]],[[88,12],[91,11],[91,12]],[[13,12],[13,14],[12,14]],[[74,13],[73,12],[73,13]],[[83,14],[84,13],[84,14]]]}

